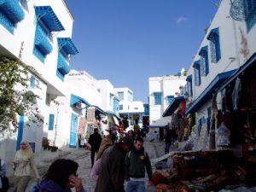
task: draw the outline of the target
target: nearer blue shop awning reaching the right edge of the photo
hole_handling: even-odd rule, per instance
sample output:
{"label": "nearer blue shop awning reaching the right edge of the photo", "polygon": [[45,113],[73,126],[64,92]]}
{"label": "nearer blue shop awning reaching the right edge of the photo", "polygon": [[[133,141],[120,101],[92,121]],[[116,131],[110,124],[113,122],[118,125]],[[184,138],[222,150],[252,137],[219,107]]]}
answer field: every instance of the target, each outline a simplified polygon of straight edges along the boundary
{"label": "nearer blue shop awning reaching the right edge of the photo", "polygon": [[252,67],[253,63],[255,64],[255,61],[256,61],[256,53],[254,53],[244,65],[236,69],[236,72],[233,73],[228,79],[226,79],[223,84],[221,84],[221,86],[218,88],[218,92],[223,90],[228,84],[230,84],[230,82],[236,79],[242,72],[247,70],[249,67]]}

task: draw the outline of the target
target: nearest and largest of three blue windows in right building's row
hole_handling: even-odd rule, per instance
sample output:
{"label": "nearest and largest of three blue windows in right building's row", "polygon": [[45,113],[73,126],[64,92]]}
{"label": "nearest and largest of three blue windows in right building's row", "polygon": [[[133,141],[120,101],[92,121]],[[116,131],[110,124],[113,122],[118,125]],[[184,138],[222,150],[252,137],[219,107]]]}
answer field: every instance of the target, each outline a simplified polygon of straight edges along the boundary
{"label": "nearest and largest of three blue windows in right building's row", "polygon": [[217,63],[221,59],[218,28],[212,29],[207,39],[210,41],[211,61]]}

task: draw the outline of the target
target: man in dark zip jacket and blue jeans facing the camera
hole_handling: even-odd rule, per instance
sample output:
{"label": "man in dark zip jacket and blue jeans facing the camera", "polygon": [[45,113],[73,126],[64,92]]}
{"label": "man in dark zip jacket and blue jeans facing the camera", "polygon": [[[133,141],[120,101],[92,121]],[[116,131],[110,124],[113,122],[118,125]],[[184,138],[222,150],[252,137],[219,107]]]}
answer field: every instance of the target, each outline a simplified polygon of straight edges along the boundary
{"label": "man in dark zip jacket and blue jeans facing the camera", "polygon": [[145,167],[149,184],[152,181],[152,168],[147,152],[143,148],[143,138],[137,137],[131,152],[125,156],[125,192],[145,191]]}

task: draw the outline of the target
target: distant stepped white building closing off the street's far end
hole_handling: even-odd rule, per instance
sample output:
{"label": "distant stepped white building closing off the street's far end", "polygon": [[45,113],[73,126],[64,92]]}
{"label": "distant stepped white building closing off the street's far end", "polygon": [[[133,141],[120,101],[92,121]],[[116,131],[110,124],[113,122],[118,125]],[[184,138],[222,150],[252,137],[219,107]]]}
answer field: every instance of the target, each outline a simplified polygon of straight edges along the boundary
{"label": "distant stepped white building closing off the street's far end", "polygon": [[127,87],[114,89],[119,96],[119,114],[122,118],[127,118],[130,121],[130,125],[136,123],[136,119],[142,127],[144,106],[141,101],[133,101],[133,91]]}

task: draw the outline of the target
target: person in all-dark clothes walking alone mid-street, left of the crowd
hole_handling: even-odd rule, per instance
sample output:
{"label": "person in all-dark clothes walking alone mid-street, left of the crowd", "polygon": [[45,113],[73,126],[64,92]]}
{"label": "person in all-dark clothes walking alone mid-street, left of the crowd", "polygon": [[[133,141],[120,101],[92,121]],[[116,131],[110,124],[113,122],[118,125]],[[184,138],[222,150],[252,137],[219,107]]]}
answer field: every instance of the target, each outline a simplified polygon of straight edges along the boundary
{"label": "person in all-dark clothes walking alone mid-street, left of the crowd", "polygon": [[94,165],[94,157],[95,154],[98,153],[102,142],[102,137],[98,133],[98,129],[94,130],[94,133],[90,135],[88,143],[90,144],[90,160],[91,160],[91,167]]}

